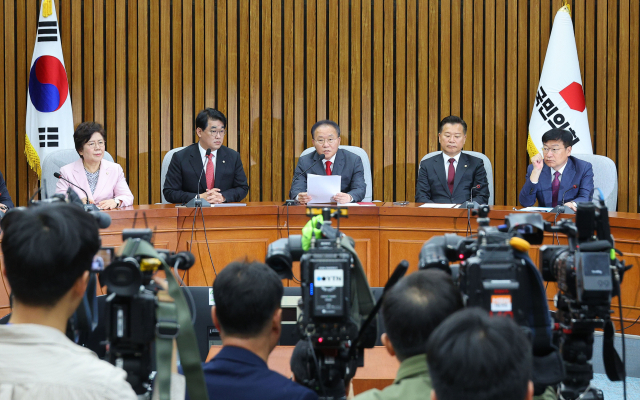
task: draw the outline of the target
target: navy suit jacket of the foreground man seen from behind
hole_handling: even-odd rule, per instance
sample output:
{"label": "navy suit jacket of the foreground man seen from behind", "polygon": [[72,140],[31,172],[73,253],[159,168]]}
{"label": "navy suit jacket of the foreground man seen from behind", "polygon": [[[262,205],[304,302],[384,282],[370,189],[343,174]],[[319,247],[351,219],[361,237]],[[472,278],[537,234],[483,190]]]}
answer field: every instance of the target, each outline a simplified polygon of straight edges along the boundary
{"label": "navy suit jacket of the foreground man seen from behind", "polygon": [[311,389],[271,371],[260,357],[240,347],[222,347],[202,369],[209,400],[318,399]]}

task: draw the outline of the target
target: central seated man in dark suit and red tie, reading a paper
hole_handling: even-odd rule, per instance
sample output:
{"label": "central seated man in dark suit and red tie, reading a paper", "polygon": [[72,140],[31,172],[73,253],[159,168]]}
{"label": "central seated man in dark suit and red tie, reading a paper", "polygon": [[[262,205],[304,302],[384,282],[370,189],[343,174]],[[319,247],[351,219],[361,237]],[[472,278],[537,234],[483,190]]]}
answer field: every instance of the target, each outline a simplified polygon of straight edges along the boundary
{"label": "central seated man in dark suit and red tie, reading a paper", "polygon": [[315,152],[300,157],[291,182],[291,199],[302,204],[311,201],[307,193],[307,174],[340,175],[340,192],[332,200],[336,203],[362,201],[367,191],[362,160],[356,154],[340,149],[340,127],[333,121],[323,120],[311,127]]}

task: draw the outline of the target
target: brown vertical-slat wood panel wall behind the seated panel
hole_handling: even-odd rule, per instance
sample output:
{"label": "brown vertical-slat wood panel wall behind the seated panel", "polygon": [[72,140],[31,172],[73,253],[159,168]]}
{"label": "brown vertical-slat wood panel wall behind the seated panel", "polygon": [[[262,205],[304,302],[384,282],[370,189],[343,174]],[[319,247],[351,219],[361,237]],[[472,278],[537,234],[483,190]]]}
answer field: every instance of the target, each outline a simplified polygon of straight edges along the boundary
{"label": "brown vertical-slat wood panel wall behind the seated panel", "polygon": [[[516,205],[527,126],[561,0],[55,0],[74,124],[96,120],[139,204],[160,201],[162,158],[217,107],[247,200],[288,193],[324,118],[364,148],[377,200],[413,200],[417,163],[449,114]],[[24,156],[38,0],[0,0],[0,169],[17,204],[37,188]],[[638,209],[640,6],[570,1],[597,154],[618,167],[618,210]],[[633,39],[636,38],[636,39]]]}

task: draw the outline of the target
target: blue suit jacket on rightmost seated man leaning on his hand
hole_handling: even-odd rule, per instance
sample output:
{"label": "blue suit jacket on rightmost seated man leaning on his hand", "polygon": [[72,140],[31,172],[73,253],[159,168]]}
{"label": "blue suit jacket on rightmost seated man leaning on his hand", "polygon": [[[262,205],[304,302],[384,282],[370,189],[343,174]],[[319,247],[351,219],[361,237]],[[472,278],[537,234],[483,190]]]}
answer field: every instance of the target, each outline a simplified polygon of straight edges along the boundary
{"label": "blue suit jacket on rightmost seated man leaning on his hand", "polygon": [[[552,207],[551,168],[546,164],[542,167],[542,173],[537,184],[531,183],[531,179],[529,179],[531,171],[533,171],[533,165],[529,165],[529,168],[527,168],[527,178],[520,191],[520,204],[523,207],[531,207],[538,200],[538,206]],[[573,185],[576,185],[577,188],[571,189]],[[575,201],[576,203],[591,201],[593,198],[593,168],[591,163],[569,156],[560,180],[558,205],[561,205],[562,195],[565,192],[565,203],[569,201]]]}

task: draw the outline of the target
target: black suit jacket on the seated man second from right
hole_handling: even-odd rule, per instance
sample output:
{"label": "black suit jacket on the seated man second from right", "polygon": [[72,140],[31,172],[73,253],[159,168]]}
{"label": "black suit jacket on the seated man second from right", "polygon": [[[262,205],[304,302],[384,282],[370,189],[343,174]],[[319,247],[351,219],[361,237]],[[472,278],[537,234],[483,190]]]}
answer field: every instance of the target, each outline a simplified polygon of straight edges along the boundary
{"label": "black suit jacket on the seated man second from right", "polygon": [[460,154],[452,195],[447,185],[444,157],[440,153],[420,163],[416,203],[464,203],[469,200],[471,188],[476,185],[480,185],[480,189],[473,191],[473,200],[479,204],[487,204],[489,201],[489,182],[482,159],[464,152]]}

